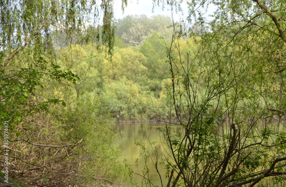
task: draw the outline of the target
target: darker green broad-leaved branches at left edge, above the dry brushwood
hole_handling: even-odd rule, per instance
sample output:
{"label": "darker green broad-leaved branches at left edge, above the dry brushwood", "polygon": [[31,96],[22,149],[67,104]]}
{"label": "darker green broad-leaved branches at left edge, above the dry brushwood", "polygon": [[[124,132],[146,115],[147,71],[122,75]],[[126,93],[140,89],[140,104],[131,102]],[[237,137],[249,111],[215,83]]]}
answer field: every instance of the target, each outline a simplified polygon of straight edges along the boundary
{"label": "darker green broad-leaved branches at left edge, above the dry brushwood", "polygon": [[[5,70],[0,71],[1,76],[1,102],[0,107],[1,122],[9,121],[10,133],[17,133],[17,126],[23,120],[33,117],[33,114],[41,110],[48,110],[51,104],[61,102],[65,105],[63,100],[46,98],[46,100],[35,103],[36,90],[44,88],[42,79],[62,81],[67,80],[76,84],[78,75],[72,71],[62,71],[59,65],[51,63],[50,68],[47,68],[48,62],[39,57],[35,63],[28,64],[27,67],[21,67],[19,71],[7,74]],[[1,128],[4,129],[4,124],[1,123]],[[3,134],[1,134],[3,136]]]}

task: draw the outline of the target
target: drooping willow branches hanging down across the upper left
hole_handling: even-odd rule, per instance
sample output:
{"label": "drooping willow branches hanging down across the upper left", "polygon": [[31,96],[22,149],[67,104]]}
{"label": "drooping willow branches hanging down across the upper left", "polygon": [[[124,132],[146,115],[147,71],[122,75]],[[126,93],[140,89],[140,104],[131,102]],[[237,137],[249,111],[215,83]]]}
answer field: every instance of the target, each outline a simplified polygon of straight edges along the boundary
{"label": "drooping willow branches hanging down across the upper left", "polygon": [[[9,63],[24,48],[33,51],[33,57],[37,58],[42,53],[51,55],[55,43],[63,46],[71,42],[89,43],[91,39],[100,42],[101,39],[111,55],[115,34],[112,5],[113,1],[103,1],[100,5],[95,1],[73,0],[1,1],[1,49],[8,52],[1,53],[8,55]],[[104,16],[99,25],[101,10]],[[93,14],[93,20],[89,14]]]}

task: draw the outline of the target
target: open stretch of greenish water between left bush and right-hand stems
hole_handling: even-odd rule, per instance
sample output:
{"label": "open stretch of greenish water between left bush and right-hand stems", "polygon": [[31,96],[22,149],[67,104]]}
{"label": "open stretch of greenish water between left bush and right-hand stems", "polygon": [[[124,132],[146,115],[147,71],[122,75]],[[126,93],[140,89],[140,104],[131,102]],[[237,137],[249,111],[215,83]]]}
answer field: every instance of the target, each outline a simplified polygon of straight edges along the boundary
{"label": "open stretch of greenish water between left bush and right-hand stems", "polygon": [[[114,124],[114,130],[120,132],[120,138],[117,139],[116,145],[119,145],[121,148],[125,149],[122,151],[121,156],[119,157],[120,162],[123,163],[124,159],[127,159],[128,163],[132,165],[132,169],[135,173],[140,173],[142,174],[142,170],[144,169],[145,162],[143,156],[140,154],[143,153],[142,149],[140,146],[136,146],[134,142],[142,142],[145,143],[146,150],[150,152],[150,155],[153,156],[154,152],[152,154],[152,147],[150,143],[148,142],[149,138],[150,142],[156,142],[154,144],[154,147],[158,149],[158,171],[161,175],[162,178],[162,183],[163,186],[166,186],[168,183],[168,179],[165,178],[165,170],[164,170],[164,165],[160,164],[162,162],[160,158],[165,158],[168,157],[168,152],[164,149],[166,146],[164,146],[164,138],[162,134],[160,134],[159,130],[157,130],[158,123],[143,123],[144,128],[142,130],[141,124],[138,123],[120,123],[120,124]],[[150,128],[150,127],[153,128]],[[135,160],[138,158],[138,168],[135,166]],[[152,177],[152,184],[154,186],[161,186],[160,182],[160,177],[154,168],[153,163],[156,163],[156,160],[154,160],[154,157],[152,160],[149,159],[147,162],[150,173],[149,177]],[[140,183],[142,182],[142,177],[137,176],[137,181],[138,184],[141,185]],[[145,186],[145,183],[143,182],[142,186]]]}

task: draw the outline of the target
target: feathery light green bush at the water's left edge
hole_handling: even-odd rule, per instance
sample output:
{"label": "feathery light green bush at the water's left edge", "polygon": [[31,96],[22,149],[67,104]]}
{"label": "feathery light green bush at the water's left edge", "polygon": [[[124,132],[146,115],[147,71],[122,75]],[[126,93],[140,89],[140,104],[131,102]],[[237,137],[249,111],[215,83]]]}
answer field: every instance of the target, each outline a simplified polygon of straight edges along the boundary
{"label": "feathery light green bush at the water's left edge", "polygon": [[[118,163],[121,150],[114,146],[118,134],[110,126],[110,113],[100,106],[100,98],[94,92],[85,93],[76,98],[70,98],[66,110],[59,113],[62,133],[69,141],[78,142],[85,137],[77,149],[82,166],[77,168],[78,174],[85,180],[84,185],[106,184],[100,179],[112,179],[114,182],[124,182],[125,171]],[[80,177],[80,178],[81,178]],[[78,179],[80,180],[80,179]]]}

